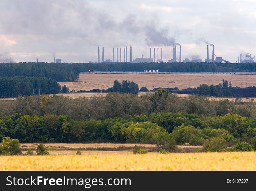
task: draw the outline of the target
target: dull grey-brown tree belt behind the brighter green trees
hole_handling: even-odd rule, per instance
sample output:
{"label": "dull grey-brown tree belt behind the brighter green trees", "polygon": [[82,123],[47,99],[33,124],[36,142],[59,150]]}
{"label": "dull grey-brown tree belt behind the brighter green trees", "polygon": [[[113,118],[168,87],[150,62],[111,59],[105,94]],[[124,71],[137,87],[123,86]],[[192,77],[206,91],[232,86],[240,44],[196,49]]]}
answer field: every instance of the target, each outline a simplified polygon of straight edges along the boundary
{"label": "dull grey-brown tree belt behind the brighter green trees", "polygon": [[256,103],[235,103],[222,99],[211,101],[202,96],[180,98],[168,90],[158,90],[141,96],[126,93],[110,93],[106,96],[88,98],[63,97],[59,95],[33,95],[0,101],[0,117],[21,113],[22,115],[45,114],[69,115],[74,120],[102,120],[127,115],[150,115],[159,112],[182,112],[214,117],[237,113],[256,118]]}

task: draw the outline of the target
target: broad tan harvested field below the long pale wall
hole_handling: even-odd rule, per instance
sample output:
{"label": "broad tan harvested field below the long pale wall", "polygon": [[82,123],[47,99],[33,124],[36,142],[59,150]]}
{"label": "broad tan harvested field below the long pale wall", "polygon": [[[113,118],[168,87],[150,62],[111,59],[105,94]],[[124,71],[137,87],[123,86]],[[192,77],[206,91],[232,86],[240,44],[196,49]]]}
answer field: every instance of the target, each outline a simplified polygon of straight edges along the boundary
{"label": "broad tan harvested field below the long pale wall", "polygon": [[256,86],[255,75],[237,74],[80,74],[78,82],[59,82],[77,90],[107,89],[113,86],[113,81],[130,80],[139,87],[146,87],[152,90],[153,87],[184,89],[186,87],[196,88],[200,84],[219,84],[222,79],[232,82],[232,86],[242,88]]}

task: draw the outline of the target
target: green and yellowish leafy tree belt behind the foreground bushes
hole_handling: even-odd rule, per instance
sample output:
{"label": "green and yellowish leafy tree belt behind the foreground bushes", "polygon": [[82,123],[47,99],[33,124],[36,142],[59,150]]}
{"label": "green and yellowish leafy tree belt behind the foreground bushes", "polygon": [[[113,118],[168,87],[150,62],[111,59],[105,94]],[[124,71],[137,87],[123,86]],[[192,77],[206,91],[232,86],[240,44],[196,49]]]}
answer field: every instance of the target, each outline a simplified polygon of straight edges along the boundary
{"label": "green and yellowish leafy tree belt behind the foreground bushes", "polygon": [[202,145],[218,137],[225,142],[251,143],[256,119],[230,113],[207,117],[189,113],[151,113],[104,120],[76,121],[68,115],[43,116],[15,113],[0,118],[0,139],[10,137],[31,142],[127,142],[156,143],[170,135],[177,144]]}

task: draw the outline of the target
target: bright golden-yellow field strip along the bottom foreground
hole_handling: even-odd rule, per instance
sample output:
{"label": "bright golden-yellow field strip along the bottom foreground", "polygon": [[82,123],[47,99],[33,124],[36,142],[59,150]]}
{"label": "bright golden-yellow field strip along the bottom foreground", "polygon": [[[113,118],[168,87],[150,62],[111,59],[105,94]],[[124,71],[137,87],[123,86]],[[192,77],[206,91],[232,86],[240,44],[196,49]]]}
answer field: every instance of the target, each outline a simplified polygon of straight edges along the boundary
{"label": "bright golden-yellow field strip along the bottom foreground", "polygon": [[0,156],[1,170],[256,170],[255,152]]}

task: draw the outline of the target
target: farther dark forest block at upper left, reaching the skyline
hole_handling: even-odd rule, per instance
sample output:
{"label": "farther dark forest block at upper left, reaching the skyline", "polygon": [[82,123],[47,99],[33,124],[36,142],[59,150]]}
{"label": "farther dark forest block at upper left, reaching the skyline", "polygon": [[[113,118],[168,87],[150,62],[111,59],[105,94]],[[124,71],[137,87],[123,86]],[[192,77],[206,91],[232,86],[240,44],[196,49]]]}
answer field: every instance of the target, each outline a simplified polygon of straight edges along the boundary
{"label": "farther dark forest block at upper left, reaching the skyline", "polygon": [[56,81],[79,79],[80,69],[76,64],[67,63],[2,63],[1,77],[29,76],[46,77]]}

